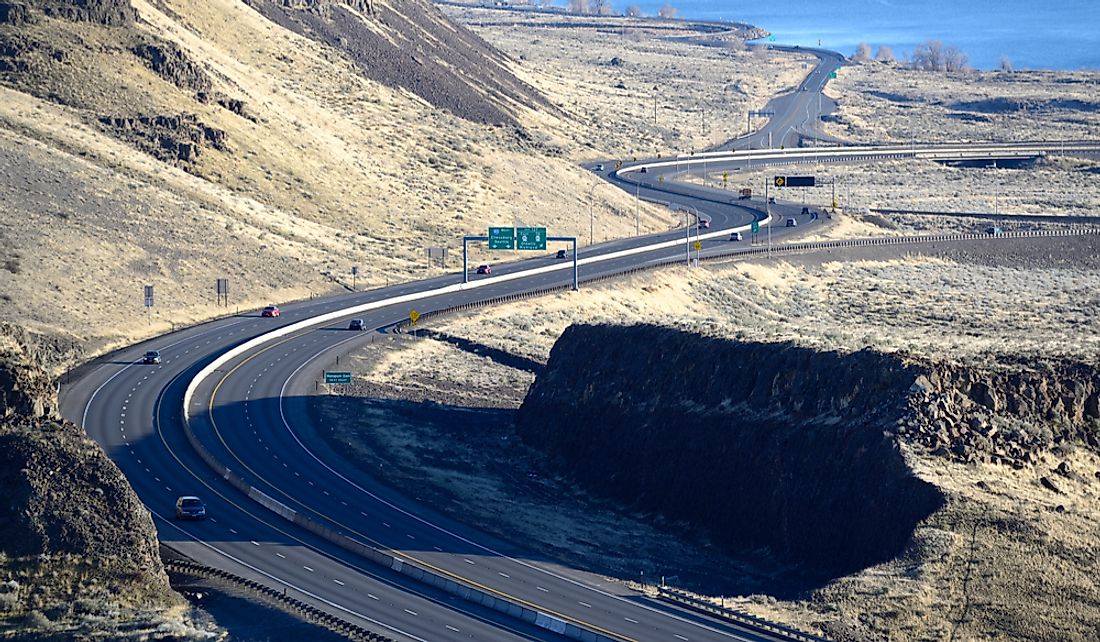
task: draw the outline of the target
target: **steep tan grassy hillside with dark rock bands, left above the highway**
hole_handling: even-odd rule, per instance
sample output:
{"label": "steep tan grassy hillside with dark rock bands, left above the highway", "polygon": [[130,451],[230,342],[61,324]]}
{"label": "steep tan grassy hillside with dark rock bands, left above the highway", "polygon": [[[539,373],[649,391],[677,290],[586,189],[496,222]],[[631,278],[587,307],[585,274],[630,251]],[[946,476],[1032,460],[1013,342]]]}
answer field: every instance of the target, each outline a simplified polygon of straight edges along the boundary
{"label": "steep tan grassy hillside with dark rock bands, left above the highway", "polygon": [[[348,287],[354,265],[360,286],[424,275],[426,247],[490,224],[579,234],[598,204],[632,232],[632,200],[586,193],[562,157],[546,99],[430,5],[19,7],[0,24],[0,313],[96,352],[223,313],[219,277],[254,307]],[[402,43],[431,67],[405,85],[378,75]]]}

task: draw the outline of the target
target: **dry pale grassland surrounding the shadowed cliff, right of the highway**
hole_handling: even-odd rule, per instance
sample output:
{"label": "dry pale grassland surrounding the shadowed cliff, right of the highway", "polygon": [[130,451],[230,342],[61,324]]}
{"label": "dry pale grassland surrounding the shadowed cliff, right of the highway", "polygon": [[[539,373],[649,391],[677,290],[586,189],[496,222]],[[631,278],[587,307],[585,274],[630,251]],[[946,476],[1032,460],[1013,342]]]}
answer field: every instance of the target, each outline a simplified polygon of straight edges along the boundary
{"label": "dry pale grassland surrounding the shadowed cliff, right of the highway", "polygon": [[[1094,247],[1089,247],[1077,246],[1075,252],[1092,253]],[[983,253],[952,261],[933,252],[857,262],[795,257],[676,268],[544,297],[535,306],[502,306],[435,328],[540,362],[561,331],[579,321],[661,323],[747,340],[842,350],[873,346],[938,359],[982,361],[989,353],[1100,359],[1100,328],[1090,312],[1097,303],[1092,292],[1100,287],[1096,262],[1057,267],[1045,248],[988,252],[1007,261],[1015,257],[1014,265],[989,261]],[[460,406],[499,405],[497,385],[526,387],[534,380],[528,373],[430,340],[404,342],[388,354],[374,352],[356,362],[355,369],[361,380],[375,384],[375,391],[389,390],[398,381],[399,389],[393,391],[399,397]],[[518,403],[516,397],[505,398],[505,406]],[[402,453],[410,469],[425,466],[418,455],[425,449],[454,441],[433,444],[440,435],[425,427],[386,421],[387,430],[372,440],[393,449],[387,453]],[[964,466],[912,453],[909,458],[949,501],[917,528],[901,557],[798,600],[766,595],[715,599],[802,628],[825,629],[842,640],[1094,639],[1100,560],[1092,543],[1100,534],[1100,482],[1094,477],[1100,457],[1084,450],[1069,455],[1080,480],[1054,475],[1052,468],[1062,460],[1049,454],[1023,471]],[[1040,477],[1052,475],[1065,495],[1040,485]],[[471,507],[480,503],[473,499],[481,494],[509,496],[507,486],[492,479],[475,474],[418,480],[444,484],[457,497],[455,506],[476,512]],[[578,524],[569,510],[558,502],[525,501],[524,509],[513,513],[470,519],[504,533],[522,533],[531,546],[586,567],[617,568],[617,574],[608,573],[620,580],[632,579],[622,572],[625,566],[617,557],[604,560],[598,551],[637,541],[648,528],[645,520],[636,523],[629,516],[616,516],[614,507],[596,505],[600,514],[593,523],[601,525],[588,528]],[[568,533],[549,524],[525,527],[524,516],[546,511],[561,511],[559,525],[576,529],[573,538],[580,541],[570,544]],[[608,534],[607,524],[615,524],[610,533],[618,533]],[[588,549],[591,543],[595,546]],[[660,567],[668,558],[648,555],[676,551],[690,557],[691,545],[685,541],[686,549],[679,551],[652,549],[639,553],[638,561]]]}

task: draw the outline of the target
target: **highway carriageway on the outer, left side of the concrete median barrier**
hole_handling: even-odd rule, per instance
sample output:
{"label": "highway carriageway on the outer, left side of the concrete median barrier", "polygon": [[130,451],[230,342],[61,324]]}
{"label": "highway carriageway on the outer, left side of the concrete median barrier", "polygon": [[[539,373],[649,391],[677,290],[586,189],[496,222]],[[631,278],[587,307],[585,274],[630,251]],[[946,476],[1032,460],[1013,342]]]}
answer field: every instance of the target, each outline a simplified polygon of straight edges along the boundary
{"label": "highway carriageway on the outer, left side of the concrete median barrier", "polygon": [[[723,215],[722,212],[716,214],[719,218]],[[744,221],[740,217],[739,213],[733,213],[726,220],[728,224],[733,224],[733,221]],[[658,235],[658,240],[682,241],[682,233],[675,231]],[[652,243],[653,239],[631,239],[594,246],[583,250],[581,256],[622,251],[647,241]],[[669,253],[679,255],[681,252],[681,248],[672,248],[640,257],[654,259],[668,256]],[[583,266],[582,269],[590,276],[603,274],[622,269],[638,258],[624,257],[606,264]],[[562,262],[536,258],[522,262],[522,267],[530,267],[532,264],[561,265]],[[495,272],[509,274],[519,268],[520,264],[516,263],[499,266]],[[455,305],[458,296],[468,297],[463,300],[472,300],[539,289],[568,278],[569,270],[558,270],[521,281],[493,284],[481,292],[474,290],[446,295],[438,305]],[[62,389],[63,412],[80,423],[120,466],[139,497],[156,516],[155,523],[161,540],[198,562],[263,582],[277,589],[285,588],[290,595],[318,608],[403,640],[554,639],[554,635],[541,629],[527,627],[496,612],[483,612],[450,596],[436,595],[410,585],[403,576],[373,567],[329,542],[282,522],[231,485],[216,478],[183,438],[178,413],[183,388],[215,355],[246,339],[296,320],[460,280],[460,276],[451,274],[385,290],[290,305],[284,307],[279,319],[261,319],[258,316],[223,319],[131,346],[74,373],[70,377],[73,383]],[[430,306],[422,307],[419,303],[418,307],[425,311],[431,309]],[[393,310],[392,316],[383,317],[395,321],[405,318],[407,311],[406,307]],[[145,350],[160,350],[164,363],[139,364]],[[186,494],[197,494],[206,499],[210,508],[210,520],[185,524],[170,519],[175,498]],[[326,508],[326,511],[336,510],[336,506]],[[424,528],[424,524],[416,528]],[[458,532],[458,527],[454,532]],[[458,550],[451,544],[448,546]],[[442,545],[439,547],[444,549]],[[413,549],[416,550],[417,546]],[[433,555],[439,552],[425,549],[418,553]],[[504,573],[510,575],[506,571]],[[497,575],[497,579],[507,578]],[[540,594],[539,597],[546,597],[541,594],[548,591],[540,590],[540,586],[535,584],[534,590]],[[572,606],[600,609],[598,600],[575,601]],[[553,604],[562,608],[566,606]],[[635,619],[627,616],[623,622],[631,624],[630,620]],[[648,633],[649,630],[645,632]],[[671,639],[676,640],[675,635],[672,633]],[[640,639],[647,639],[647,635],[642,634]],[[695,639],[706,638],[696,635]]]}

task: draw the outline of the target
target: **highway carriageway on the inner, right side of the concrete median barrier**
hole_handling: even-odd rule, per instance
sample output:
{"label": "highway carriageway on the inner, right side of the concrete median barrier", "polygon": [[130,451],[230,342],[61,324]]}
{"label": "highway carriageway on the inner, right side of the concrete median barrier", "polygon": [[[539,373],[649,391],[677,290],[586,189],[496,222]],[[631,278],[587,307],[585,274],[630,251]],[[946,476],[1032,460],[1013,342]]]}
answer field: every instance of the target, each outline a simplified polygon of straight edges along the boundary
{"label": "highway carriageway on the inner, right side of the concrete median barrier", "polygon": [[[565,283],[561,276],[556,278]],[[463,294],[473,301],[495,292]],[[425,310],[440,305],[418,301]],[[363,317],[369,325],[381,326],[406,313],[402,306]],[[302,396],[312,389],[315,373],[297,378],[295,374],[300,364],[312,363],[319,354],[369,340],[344,328],[334,324],[306,331],[227,364],[224,376],[212,378],[196,395],[210,403],[208,413],[193,416],[205,447],[249,484],[315,521],[609,637],[765,639],[722,623],[704,624],[694,617],[672,615],[668,607],[648,606],[640,596],[622,594],[620,588],[579,582],[513,546],[485,545],[490,540],[484,534],[439,516],[425,517],[415,499],[380,488],[343,465],[316,438],[304,409]]]}

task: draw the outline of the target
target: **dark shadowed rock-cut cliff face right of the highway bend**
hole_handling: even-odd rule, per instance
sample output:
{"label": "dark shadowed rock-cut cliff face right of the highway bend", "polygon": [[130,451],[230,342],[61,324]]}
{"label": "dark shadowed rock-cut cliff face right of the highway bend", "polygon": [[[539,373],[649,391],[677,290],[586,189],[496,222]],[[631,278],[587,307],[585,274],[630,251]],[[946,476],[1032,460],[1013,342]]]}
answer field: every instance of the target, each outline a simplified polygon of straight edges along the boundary
{"label": "dark shadowed rock-cut cliff face right of the highway bend", "polygon": [[[517,422],[603,494],[703,528],[729,550],[767,547],[811,572],[847,574],[895,556],[943,506],[902,444],[956,458],[1000,447],[1018,463],[1009,452],[1033,452],[1021,445],[1027,431],[996,442],[970,419],[1034,425],[1034,411],[1057,418],[1063,440],[1087,433],[1096,372],[1058,372],[582,325],[561,336]],[[979,436],[987,443],[967,445]]]}

